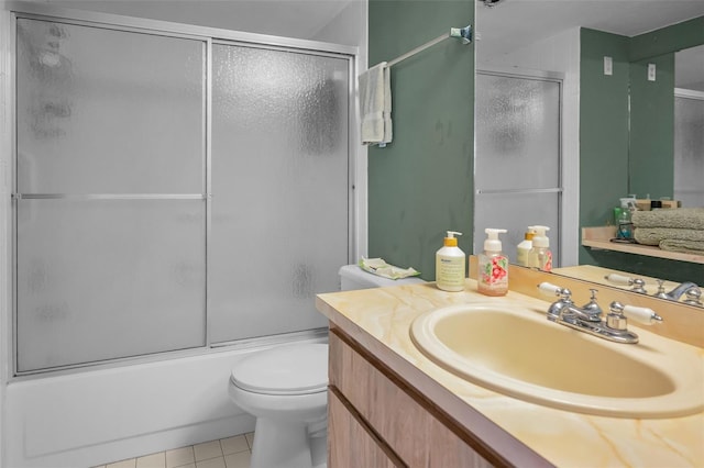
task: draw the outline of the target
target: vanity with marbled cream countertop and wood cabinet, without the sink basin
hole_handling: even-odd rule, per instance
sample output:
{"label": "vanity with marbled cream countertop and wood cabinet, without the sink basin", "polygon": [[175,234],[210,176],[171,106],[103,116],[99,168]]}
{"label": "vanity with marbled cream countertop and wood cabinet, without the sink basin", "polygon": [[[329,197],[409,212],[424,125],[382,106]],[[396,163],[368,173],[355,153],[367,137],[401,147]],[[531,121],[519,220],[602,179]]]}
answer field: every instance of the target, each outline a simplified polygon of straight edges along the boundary
{"label": "vanity with marbled cream countertop and wood cabinet, without the sink basin", "polygon": [[[463,292],[425,283],[317,297],[318,310],[330,320],[330,467],[704,466],[704,406],[684,415],[635,417],[531,402],[462,377],[411,337],[414,323],[431,311],[497,304],[520,309],[536,324],[580,333],[547,321],[551,299],[541,298],[536,285],[549,280],[569,287],[581,303],[587,282],[524,268],[512,268],[510,275],[505,298],[479,294],[472,279]],[[612,300],[642,307],[653,301],[616,289],[600,293],[606,307]],[[680,305],[652,303],[667,326],[656,334],[629,324],[640,343],[598,346],[639,346],[631,350],[641,356],[676,349],[696,376],[704,372],[704,319],[697,316],[704,313],[682,308],[681,317]],[[496,331],[486,326],[486,333]],[[554,353],[564,350],[556,345]],[[574,361],[575,367],[598,365],[588,355]],[[691,390],[704,393],[704,381],[698,383]]]}

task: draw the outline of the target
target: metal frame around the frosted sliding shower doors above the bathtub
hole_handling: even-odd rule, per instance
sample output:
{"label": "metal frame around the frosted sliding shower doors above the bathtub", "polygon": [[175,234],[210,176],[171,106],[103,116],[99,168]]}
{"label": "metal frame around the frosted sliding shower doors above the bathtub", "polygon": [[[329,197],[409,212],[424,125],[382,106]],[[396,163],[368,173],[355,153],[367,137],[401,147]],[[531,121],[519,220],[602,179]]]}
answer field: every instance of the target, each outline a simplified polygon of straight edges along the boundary
{"label": "metal frame around the frosted sliding shower doors above the bathtub", "polygon": [[[212,352],[221,350],[218,345],[211,344],[210,332],[208,325],[208,280],[206,277],[206,338],[205,345],[180,350],[165,350],[155,354],[118,357],[107,361],[92,361],[68,366],[59,366],[56,368],[50,368],[38,371],[25,371],[19,372],[18,365],[18,336],[16,336],[16,213],[18,213],[18,199],[21,194],[16,189],[16,109],[14,105],[15,92],[15,58],[16,58],[16,20],[31,19],[42,21],[56,21],[63,23],[69,23],[82,26],[95,26],[109,30],[118,30],[125,32],[139,32],[145,34],[154,34],[172,37],[185,37],[190,40],[204,41],[206,43],[206,64],[205,64],[205,211],[206,211],[206,235],[205,235],[205,248],[206,248],[206,270],[207,263],[210,256],[210,232],[211,232],[211,108],[212,108],[212,44],[219,42],[227,43],[240,43],[240,44],[254,44],[256,46],[264,46],[277,49],[297,51],[311,55],[326,55],[336,56],[346,59],[349,63],[348,74],[348,259],[352,261],[360,254],[358,252],[361,246],[365,245],[366,229],[365,220],[360,219],[358,210],[363,204],[363,198],[366,196],[359,187],[365,187],[365,183],[358,183],[358,178],[362,177],[358,171],[358,164],[360,158],[360,146],[355,145],[358,130],[354,125],[356,122],[356,70],[359,69],[359,48],[354,46],[345,46],[339,44],[323,43],[317,41],[299,40],[278,37],[258,33],[245,33],[230,30],[222,30],[209,26],[196,26],[182,23],[172,23],[161,20],[147,20],[132,16],[121,16],[108,13],[98,13],[90,11],[68,10],[59,7],[53,7],[41,3],[25,3],[25,2],[12,2],[6,7],[4,11],[0,11],[0,20],[2,24],[10,24],[10,27],[3,27],[3,41],[0,43],[0,48],[3,52],[8,51],[8,54],[3,54],[2,57],[8,57],[7,63],[3,62],[2,68],[9,70],[7,78],[0,81],[0,85],[4,85],[0,92],[2,93],[2,112],[4,120],[2,121],[3,130],[9,130],[8,138],[0,140],[2,144],[2,152],[7,152],[10,157],[6,160],[0,158],[0,187],[7,190],[10,194],[7,205],[0,209],[0,229],[3,229],[3,235],[7,234],[9,239],[7,250],[0,253],[0,259],[2,261],[2,272],[0,274],[0,292],[3,294],[3,300],[0,302],[0,331],[1,337],[4,344],[0,349],[0,382],[13,381],[18,379],[28,378],[33,375],[55,375],[76,371],[81,368],[101,369],[112,368],[125,364],[141,364],[160,361],[165,358],[179,358],[198,356]],[[7,176],[6,176],[7,172]],[[2,186],[4,183],[4,187]],[[183,198],[183,197],[179,197]],[[8,261],[4,261],[7,258]],[[312,304],[311,304],[312,307]],[[249,348],[253,346],[267,346],[275,343],[285,342],[290,338],[302,337],[321,337],[327,334],[322,330],[293,332],[286,335],[265,336],[258,338],[245,338],[235,344],[228,344],[230,347]]]}

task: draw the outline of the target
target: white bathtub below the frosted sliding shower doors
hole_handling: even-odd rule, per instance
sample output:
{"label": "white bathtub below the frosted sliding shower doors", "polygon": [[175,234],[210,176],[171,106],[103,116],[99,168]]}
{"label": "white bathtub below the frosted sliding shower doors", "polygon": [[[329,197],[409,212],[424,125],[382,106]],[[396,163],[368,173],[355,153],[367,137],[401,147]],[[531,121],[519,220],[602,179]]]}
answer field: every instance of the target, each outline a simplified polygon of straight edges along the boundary
{"label": "white bathtub below the frosted sliding shower doors", "polygon": [[228,382],[233,364],[261,348],[15,380],[4,461],[89,467],[251,432],[255,420],[231,402]]}

